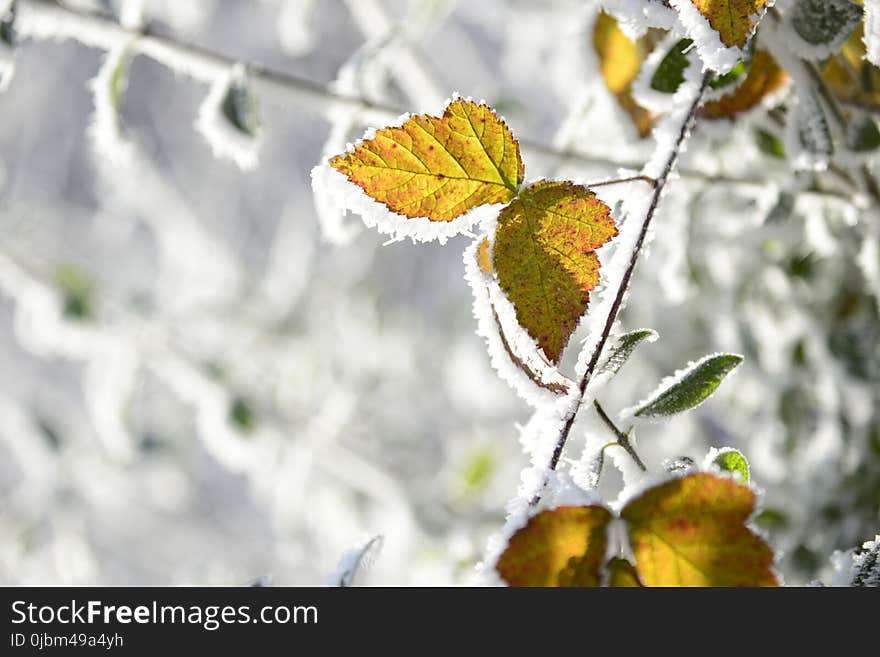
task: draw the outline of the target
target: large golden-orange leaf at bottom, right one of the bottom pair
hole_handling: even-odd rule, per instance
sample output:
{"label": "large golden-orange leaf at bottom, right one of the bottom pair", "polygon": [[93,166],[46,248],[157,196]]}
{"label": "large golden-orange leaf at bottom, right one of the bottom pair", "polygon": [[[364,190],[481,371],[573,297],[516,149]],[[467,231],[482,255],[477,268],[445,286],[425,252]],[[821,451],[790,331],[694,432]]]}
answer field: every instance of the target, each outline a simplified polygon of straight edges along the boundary
{"label": "large golden-orange leaf at bottom, right one of the bottom pair", "polygon": [[778,586],[773,552],[745,523],[751,488],[697,473],[651,488],[626,505],[636,572],[646,586]]}

